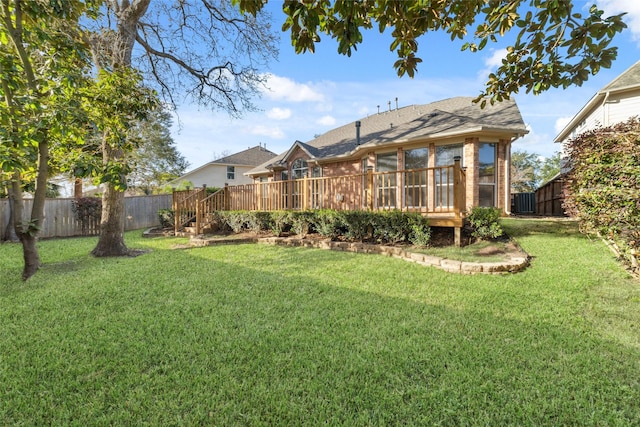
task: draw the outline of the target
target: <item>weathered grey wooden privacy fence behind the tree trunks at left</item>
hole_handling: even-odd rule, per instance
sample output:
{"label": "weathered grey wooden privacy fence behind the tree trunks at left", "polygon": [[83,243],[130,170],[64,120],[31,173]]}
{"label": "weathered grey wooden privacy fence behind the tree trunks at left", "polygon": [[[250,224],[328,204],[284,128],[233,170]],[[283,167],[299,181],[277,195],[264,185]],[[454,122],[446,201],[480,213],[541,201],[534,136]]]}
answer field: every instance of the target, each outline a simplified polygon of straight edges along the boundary
{"label": "weathered grey wooden privacy fence behind the tree trunks at left", "polygon": [[[171,209],[171,194],[155,196],[134,196],[124,199],[125,230],[153,227],[159,224],[158,210]],[[71,237],[95,235],[99,233],[99,224],[82,224],[73,212],[73,199],[47,199],[44,205],[44,222],[40,238]],[[25,215],[31,214],[33,201],[26,199]],[[5,240],[5,231],[9,222],[9,201],[0,199],[0,240]]]}

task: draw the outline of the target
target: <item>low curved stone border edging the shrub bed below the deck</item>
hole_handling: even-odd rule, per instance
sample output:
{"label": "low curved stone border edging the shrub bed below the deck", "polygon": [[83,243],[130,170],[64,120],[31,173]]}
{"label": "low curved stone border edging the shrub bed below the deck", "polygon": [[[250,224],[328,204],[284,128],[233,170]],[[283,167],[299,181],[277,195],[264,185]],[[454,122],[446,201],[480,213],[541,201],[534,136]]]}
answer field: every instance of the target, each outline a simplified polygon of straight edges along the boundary
{"label": "low curved stone border edging the shrub bed below the deck", "polygon": [[407,251],[398,246],[372,245],[368,243],[333,242],[331,240],[312,240],[292,237],[262,237],[262,238],[238,238],[238,239],[206,239],[195,237],[191,239],[191,245],[197,247],[216,244],[259,243],[265,245],[278,245],[290,247],[307,247],[317,249],[329,249],[334,251],[355,252],[363,254],[377,254],[403,259],[416,264],[436,267],[450,273],[459,274],[502,274],[517,273],[529,266],[529,256],[519,253],[511,256],[504,262],[467,262],[440,258]]}

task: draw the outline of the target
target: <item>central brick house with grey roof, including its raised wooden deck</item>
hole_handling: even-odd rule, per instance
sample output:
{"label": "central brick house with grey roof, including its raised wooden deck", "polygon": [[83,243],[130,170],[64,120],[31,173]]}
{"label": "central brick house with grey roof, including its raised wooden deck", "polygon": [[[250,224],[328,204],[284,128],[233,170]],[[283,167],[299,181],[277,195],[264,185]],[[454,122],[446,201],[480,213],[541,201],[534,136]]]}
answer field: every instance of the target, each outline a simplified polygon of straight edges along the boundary
{"label": "central brick house with grey roof, including its raised wooden deck", "polygon": [[453,227],[459,242],[468,208],[509,213],[511,144],[527,133],[513,100],[485,108],[473,100],[390,108],[295,141],[247,171],[252,184],[174,193],[176,231],[193,212],[199,232],[215,210],[397,209]]}

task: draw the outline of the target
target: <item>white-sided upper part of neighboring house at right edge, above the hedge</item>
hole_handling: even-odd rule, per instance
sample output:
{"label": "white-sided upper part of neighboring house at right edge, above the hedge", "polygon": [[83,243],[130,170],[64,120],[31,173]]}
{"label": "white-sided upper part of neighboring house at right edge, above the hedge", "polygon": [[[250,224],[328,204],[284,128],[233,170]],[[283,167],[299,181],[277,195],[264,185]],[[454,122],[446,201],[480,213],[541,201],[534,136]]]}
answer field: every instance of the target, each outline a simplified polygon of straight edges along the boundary
{"label": "white-sided upper part of neighboring house at right edge, above the hedge", "polygon": [[560,131],[554,142],[564,145],[583,132],[624,122],[639,114],[640,61],[600,89]]}

